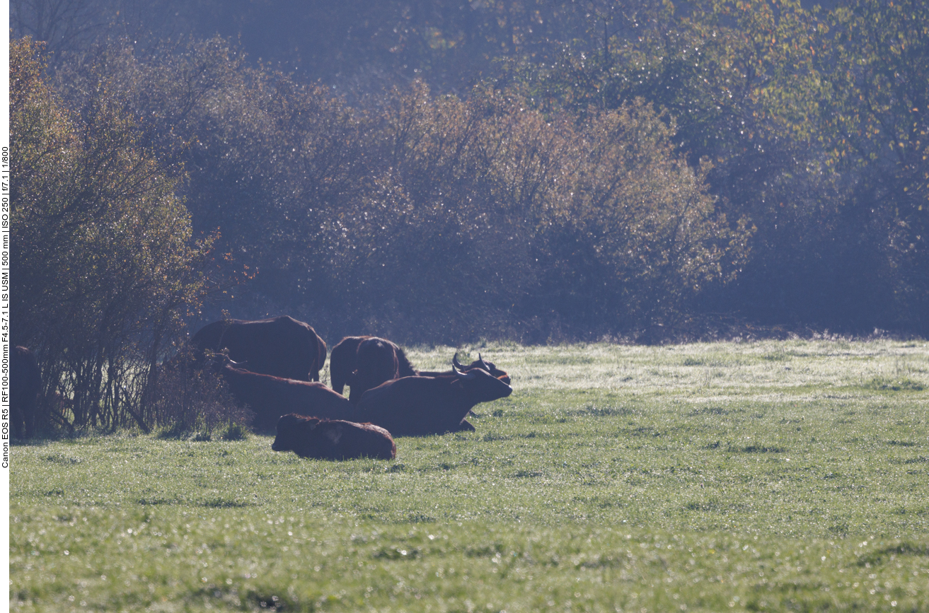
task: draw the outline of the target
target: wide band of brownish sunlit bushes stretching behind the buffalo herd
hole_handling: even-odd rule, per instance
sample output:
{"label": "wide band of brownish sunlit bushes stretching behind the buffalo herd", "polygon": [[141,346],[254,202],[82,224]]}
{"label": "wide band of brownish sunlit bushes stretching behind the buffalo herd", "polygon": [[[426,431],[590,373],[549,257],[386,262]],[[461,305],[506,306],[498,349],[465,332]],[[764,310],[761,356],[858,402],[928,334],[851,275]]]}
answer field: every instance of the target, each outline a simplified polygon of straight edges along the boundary
{"label": "wide band of brownish sunlit bushes stretching behind the buffalo herd", "polygon": [[614,333],[678,319],[745,254],[745,224],[642,102],[578,123],[517,92],[415,82],[353,110],[215,39],[101,48],[59,70],[76,104],[101,66],[152,147],[190,143],[194,226],[218,230],[217,266],[252,277],[235,292],[254,316],[426,343]]}

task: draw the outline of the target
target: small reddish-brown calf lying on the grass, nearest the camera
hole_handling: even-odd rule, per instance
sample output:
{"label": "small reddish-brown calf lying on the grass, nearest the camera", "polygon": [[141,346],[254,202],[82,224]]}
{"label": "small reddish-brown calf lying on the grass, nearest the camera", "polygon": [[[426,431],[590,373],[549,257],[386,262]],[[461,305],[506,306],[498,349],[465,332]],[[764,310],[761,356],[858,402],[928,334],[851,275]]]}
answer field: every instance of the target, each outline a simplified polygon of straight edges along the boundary
{"label": "small reddish-brown calf lying on the grass, nearest the camera", "polygon": [[301,458],[319,460],[392,460],[397,456],[394,439],[384,428],[296,414],[278,420],[278,435],[271,449],[294,451]]}

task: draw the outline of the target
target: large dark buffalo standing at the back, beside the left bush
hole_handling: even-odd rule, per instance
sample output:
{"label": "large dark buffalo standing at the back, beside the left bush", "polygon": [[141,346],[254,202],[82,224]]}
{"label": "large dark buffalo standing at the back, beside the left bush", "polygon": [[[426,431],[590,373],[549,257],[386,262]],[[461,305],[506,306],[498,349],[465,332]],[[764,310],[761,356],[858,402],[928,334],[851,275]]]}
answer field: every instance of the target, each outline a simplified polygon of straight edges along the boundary
{"label": "large dark buffalo standing at the back, beside the left bush", "polygon": [[203,326],[190,338],[195,351],[229,350],[229,359],[251,372],[284,379],[319,381],[326,344],[312,326],[292,317],[222,320]]}

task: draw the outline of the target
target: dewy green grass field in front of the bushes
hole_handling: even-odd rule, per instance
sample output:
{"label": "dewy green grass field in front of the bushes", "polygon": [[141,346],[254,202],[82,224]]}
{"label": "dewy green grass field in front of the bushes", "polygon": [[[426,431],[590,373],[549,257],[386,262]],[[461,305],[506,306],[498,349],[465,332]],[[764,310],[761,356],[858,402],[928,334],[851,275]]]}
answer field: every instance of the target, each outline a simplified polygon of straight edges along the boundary
{"label": "dewy green grass field in front of the bushes", "polygon": [[929,610],[929,344],[467,350],[513,395],[391,462],[14,447],[10,606]]}

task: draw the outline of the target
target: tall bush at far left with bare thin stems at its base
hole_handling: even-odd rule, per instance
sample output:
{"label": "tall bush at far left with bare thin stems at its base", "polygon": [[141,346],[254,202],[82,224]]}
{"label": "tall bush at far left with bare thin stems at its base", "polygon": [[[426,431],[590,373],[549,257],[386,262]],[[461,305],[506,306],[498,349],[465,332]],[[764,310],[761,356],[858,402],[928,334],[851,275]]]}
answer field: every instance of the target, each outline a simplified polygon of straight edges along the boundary
{"label": "tall bush at far left with bare thin stems at its base", "polygon": [[199,304],[209,240],[191,241],[177,174],[105,82],[74,113],[41,73],[31,41],[11,43],[13,342],[38,352],[55,399],[40,424],[146,428],[150,372]]}

